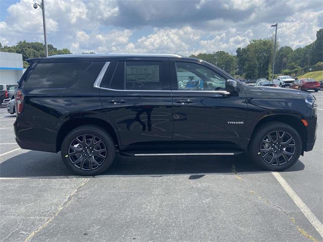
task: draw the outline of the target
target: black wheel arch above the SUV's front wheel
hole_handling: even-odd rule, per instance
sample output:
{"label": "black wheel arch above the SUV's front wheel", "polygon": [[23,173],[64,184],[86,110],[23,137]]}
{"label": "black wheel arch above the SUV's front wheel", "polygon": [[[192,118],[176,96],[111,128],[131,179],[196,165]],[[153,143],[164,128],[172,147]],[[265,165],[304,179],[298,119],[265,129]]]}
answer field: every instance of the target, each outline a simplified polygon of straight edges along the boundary
{"label": "black wheel arch above the SUV's front wheel", "polygon": [[[257,129],[262,126],[265,123],[268,122],[281,122],[281,123],[285,123],[287,125],[292,126],[301,136],[302,139],[302,145],[303,145],[303,151],[302,154],[305,150],[306,144],[307,144],[307,132],[306,132],[306,128],[304,127],[301,119],[299,117],[293,116],[293,115],[287,115],[287,114],[274,114],[274,115],[270,115],[270,116],[265,116],[263,118],[261,118],[259,120],[259,122],[257,123],[257,125],[254,127],[252,133],[251,133],[251,138],[250,140],[253,138],[255,132],[257,131]],[[250,142],[249,142],[250,144]]]}

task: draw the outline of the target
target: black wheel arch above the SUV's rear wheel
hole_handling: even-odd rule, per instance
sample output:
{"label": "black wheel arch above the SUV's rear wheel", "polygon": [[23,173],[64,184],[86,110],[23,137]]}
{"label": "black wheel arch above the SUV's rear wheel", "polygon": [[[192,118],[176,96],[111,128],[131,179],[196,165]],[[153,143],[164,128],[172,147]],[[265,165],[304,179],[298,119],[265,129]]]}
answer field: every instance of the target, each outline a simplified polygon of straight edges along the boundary
{"label": "black wheel arch above the SUV's rear wheel", "polygon": [[93,118],[93,117],[79,117],[79,118],[72,118],[67,120],[59,129],[57,139],[56,139],[56,151],[59,152],[61,150],[61,146],[63,143],[64,138],[66,135],[71,132],[73,129],[82,126],[82,125],[96,125],[98,127],[103,128],[106,130],[107,133],[109,133],[115,144],[119,146],[120,142],[117,136],[117,133],[113,126],[109,124],[109,122],[106,122],[105,120],[102,120],[100,118]]}

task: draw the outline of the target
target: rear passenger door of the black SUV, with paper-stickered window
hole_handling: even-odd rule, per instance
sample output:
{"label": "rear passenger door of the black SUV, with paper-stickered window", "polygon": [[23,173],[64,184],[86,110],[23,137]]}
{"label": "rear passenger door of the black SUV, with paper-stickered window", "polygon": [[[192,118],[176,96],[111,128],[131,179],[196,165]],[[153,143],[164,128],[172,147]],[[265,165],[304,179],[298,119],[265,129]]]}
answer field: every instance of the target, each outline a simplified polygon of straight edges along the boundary
{"label": "rear passenger door of the black SUV, with paper-stickered window", "polygon": [[100,98],[121,145],[169,144],[173,124],[168,59],[119,58],[111,65]]}

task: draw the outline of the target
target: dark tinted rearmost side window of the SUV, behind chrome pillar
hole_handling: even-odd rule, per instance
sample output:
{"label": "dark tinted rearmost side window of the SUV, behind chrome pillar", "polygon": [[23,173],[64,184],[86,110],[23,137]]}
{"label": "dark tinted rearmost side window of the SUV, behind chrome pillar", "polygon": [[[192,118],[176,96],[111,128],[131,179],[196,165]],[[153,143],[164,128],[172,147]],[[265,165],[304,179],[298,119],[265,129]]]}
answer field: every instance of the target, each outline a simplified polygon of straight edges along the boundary
{"label": "dark tinted rearmost side window of the SUV, behind chrome pillar", "polygon": [[62,88],[70,86],[90,65],[79,63],[40,63],[31,72],[25,88]]}

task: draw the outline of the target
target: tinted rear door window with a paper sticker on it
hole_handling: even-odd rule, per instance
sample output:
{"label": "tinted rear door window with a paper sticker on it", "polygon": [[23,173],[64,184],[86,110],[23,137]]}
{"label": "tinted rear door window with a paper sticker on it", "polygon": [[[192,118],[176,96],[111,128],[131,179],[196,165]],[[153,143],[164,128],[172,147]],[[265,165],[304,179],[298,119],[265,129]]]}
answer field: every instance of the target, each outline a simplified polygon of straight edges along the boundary
{"label": "tinted rear door window with a paper sticker on it", "polygon": [[126,62],[126,90],[163,90],[161,62]]}

